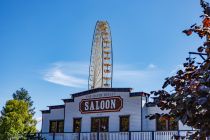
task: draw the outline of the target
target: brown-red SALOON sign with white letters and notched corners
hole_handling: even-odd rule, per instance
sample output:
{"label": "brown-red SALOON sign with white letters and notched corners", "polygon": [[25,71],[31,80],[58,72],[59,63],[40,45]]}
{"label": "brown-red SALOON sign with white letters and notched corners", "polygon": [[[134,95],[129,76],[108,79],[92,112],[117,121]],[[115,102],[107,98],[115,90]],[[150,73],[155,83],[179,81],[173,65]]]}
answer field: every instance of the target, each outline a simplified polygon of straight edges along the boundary
{"label": "brown-red SALOON sign with white letters and notched corners", "polygon": [[118,112],[122,107],[123,99],[120,96],[82,99],[79,105],[82,114]]}

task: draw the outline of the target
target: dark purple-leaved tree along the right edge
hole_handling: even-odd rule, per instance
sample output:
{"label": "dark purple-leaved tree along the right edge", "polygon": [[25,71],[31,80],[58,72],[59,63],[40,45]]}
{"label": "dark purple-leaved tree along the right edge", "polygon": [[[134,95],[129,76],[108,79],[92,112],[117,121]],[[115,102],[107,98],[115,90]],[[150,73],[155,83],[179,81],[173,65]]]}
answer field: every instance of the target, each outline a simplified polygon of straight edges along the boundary
{"label": "dark purple-leaved tree along the right edge", "polygon": [[[201,4],[209,8],[207,3]],[[201,26],[194,24],[183,33],[187,36],[195,33],[200,38],[207,38],[207,41],[198,47],[196,53],[204,60],[197,62],[195,58],[186,58],[187,62],[183,63],[183,70],[166,78],[162,90],[152,91],[151,93],[156,96],[153,103],[161,110],[166,109],[169,112],[147,116],[149,119],[173,117],[176,121],[198,129],[191,135],[194,139],[205,139],[206,136],[210,136],[210,17],[207,11],[201,18],[203,18]],[[168,86],[174,90],[167,92],[165,88]]]}

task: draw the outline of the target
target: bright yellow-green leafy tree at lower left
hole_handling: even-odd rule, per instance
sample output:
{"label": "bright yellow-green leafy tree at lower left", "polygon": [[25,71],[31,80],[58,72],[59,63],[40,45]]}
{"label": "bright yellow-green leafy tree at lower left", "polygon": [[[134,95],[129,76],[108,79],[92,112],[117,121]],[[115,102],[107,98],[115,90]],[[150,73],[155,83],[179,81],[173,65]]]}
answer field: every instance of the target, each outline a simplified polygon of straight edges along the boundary
{"label": "bright yellow-green leafy tree at lower left", "polygon": [[36,132],[36,121],[29,112],[28,103],[23,100],[7,101],[1,115],[0,139],[24,139],[28,133]]}

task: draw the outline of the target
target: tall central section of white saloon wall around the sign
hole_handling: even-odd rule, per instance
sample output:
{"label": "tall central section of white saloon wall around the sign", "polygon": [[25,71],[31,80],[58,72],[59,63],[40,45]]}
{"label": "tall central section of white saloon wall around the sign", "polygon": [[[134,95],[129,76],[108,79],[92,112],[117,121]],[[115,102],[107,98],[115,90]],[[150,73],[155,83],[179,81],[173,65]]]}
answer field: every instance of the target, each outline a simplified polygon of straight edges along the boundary
{"label": "tall central section of white saloon wall around the sign", "polygon": [[[109,131],[119,131],[119,116],[130,115],[130,130],[141,130],[141,97],[130,97],[129,92],[97,92],[90,95],[76,97],[74,102],[66,103],[65,132],[73,131],[73,118],[82,118],[82,132],[91,131],[92,117],[109,117]],[[123,108],[120,112],[81,114],[79,103],[82,99],[120,96],[123,99]]]}

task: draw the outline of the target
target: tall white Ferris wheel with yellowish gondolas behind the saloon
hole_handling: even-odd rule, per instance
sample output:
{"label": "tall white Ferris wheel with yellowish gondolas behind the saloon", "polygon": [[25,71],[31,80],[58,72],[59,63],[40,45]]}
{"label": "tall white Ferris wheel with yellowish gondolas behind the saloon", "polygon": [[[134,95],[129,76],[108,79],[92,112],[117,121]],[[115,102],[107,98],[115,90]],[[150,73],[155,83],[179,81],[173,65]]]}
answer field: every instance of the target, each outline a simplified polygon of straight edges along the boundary
{"label": "tall white Ferris wheel with yellowish gondolas behind the saloon", "polygon": [[113,53],[111,31],[107,21],[97,21],[93,34],[88,88],[111,88]]}

